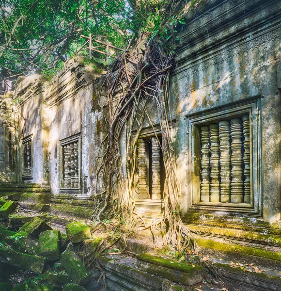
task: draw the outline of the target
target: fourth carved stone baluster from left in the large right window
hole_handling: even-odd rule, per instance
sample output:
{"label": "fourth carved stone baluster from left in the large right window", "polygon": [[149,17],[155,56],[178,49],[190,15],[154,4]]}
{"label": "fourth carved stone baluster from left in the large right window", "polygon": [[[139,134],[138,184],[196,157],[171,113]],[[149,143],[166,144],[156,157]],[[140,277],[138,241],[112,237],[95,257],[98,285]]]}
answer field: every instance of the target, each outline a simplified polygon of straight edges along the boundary
{"label": "fourth carved stone baluster from left in the large right window", "polygon": [[242,121],[234,118],[230,121],[231,149],[231,203],[243,203],[243,156],[242,156]]}

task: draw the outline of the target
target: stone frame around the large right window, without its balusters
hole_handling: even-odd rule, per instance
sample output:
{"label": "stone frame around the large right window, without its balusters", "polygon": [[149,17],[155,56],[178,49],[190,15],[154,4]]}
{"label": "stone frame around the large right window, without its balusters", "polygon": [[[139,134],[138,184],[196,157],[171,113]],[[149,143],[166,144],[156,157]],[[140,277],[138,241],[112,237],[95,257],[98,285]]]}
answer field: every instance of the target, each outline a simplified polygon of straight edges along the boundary
{"label": "stone frame around the large right window, without its balusters", "polygon": [[[223,118],[250,116],[250,188],[251,203],[200,202],[200,127],[218,122]],[[261,141],[261,98],[234,102],[213,110],[186,115],[187,118],[187,197],[188,211],[247,213],[262,216],[262,141]],[[222,209],[223,208],[223,209]]]}

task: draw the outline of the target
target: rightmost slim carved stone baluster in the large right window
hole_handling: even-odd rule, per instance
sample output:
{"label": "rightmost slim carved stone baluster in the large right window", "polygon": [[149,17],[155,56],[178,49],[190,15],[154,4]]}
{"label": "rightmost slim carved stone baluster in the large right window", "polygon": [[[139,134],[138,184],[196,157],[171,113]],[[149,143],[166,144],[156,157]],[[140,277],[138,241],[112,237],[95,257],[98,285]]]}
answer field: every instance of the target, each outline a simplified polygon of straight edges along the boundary
{"label": "rightmost slim carved stone baluster in the large right window", "polygon": [[244,202],[250,203],[250,120],[249,115],[242,116],[244,134]]}

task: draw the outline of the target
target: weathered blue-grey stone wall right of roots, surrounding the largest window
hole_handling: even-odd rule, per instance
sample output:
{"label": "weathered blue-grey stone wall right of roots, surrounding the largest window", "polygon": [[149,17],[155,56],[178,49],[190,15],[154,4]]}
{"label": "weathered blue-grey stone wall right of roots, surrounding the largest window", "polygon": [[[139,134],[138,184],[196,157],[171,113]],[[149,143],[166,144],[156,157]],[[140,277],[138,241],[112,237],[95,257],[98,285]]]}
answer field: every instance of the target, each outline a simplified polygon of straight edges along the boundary
{"label": "weathered blue-grey stone wall right of roots, surrounding the largest window", "polygon": [[208,114],[256,102],[259,109],[252,116],[258,119],[259,146],[252,148],[252,154],[260,161],[252,171],[258,173],[253,191],[254,195],[259,192],[254,203],[260,210],[249,215],[280,222],[281,4],[275,0],[216,3],[180,33],[183,45],[177,51],[171,81],[182,211],[215,215],[238,211],[199,209],[193,205],[193,180],[199,177],[194,177],[192,168],[196,153],[191,144],[196,137],[189,132],[190,120],[194,116],[202,116],[203,120]]}

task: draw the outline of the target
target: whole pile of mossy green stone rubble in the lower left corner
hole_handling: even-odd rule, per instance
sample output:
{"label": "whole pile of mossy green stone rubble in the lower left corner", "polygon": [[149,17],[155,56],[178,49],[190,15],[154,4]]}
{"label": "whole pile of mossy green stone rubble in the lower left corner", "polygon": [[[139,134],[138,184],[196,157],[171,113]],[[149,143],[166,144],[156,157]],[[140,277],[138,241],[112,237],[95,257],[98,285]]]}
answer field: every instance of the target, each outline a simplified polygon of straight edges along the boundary
{"label": "whole pile of mossy green stone rubble in the lower left corner", "polygon": [[[47,224],[46,214],[13,214],[15,210],[15,201],[0,201],[0,291],[85,291],[90,275],[71,246],[91,239],[90,227],[73,222],[61,234]],[[35,279],[11,282],[21,270],[37,273]]]}

